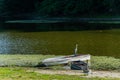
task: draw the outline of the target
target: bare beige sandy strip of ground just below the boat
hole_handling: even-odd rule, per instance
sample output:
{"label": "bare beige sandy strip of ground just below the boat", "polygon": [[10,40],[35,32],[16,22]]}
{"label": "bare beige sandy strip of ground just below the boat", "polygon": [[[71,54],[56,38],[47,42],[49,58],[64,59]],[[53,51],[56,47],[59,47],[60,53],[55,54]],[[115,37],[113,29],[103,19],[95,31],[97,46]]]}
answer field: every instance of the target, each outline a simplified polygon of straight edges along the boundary
{"label": "bare beige sandy strip of ground just below the boat", "polygon": [[100,78],[120,78],[120,73],[116,71],[91,71],[89,74],[85,74],[80,70],[45,70],[45,69],[35,69],[29,70],[29,72],[36,72],[40,74],[49,74],[49,75],[78,75],[81,77],[100,77]]}

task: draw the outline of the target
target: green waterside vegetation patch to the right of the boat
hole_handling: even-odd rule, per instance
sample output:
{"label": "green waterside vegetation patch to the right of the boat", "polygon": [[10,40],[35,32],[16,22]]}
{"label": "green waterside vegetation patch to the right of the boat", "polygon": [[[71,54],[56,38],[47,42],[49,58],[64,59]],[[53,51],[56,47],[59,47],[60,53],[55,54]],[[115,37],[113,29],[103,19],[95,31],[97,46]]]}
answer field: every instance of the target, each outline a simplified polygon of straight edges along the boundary
{"label": "green waterside vegetation patch to the right of the boat", "polygon": [[107,56],[92,56],[91,68],[94,70],[120,71],[120,59]]}

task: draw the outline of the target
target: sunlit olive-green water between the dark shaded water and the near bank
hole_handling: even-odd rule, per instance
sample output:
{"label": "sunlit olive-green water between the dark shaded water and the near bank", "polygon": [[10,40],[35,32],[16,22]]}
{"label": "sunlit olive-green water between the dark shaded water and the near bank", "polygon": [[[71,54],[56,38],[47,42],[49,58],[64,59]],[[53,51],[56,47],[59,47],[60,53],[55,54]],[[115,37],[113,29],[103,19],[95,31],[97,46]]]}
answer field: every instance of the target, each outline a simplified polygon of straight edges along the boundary
{"label": "sunlit olive-green water between the dark shaded water and the near bank", "polygon": [[120,56],[120,30],[0,32],[0,54]]}

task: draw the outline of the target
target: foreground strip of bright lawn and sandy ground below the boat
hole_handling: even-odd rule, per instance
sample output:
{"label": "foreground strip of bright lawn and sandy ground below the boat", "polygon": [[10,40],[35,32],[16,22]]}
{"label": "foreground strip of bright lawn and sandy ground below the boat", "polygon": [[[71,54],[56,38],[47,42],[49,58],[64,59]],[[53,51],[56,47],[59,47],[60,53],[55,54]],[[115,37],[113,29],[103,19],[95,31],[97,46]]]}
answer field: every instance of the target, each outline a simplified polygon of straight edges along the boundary
{"label": "foreground strip of bright lawn and sandy ground below the boat", "polygon": [[95,71],[85,75],[80,71],[41,70],[25,67],[0,67],[0,80],[120,80],[120,73]]}

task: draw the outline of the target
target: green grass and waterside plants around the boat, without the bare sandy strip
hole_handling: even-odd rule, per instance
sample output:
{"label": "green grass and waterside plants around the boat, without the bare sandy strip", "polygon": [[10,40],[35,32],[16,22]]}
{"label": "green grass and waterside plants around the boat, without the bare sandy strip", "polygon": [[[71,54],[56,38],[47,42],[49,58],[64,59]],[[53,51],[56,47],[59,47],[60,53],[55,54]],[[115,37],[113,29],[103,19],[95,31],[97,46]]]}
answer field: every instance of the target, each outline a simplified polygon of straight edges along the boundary
{"label": "green grass and waterside plants around the boat, without the bare sandy strip", "polygon": [[[117,78],[85,78],[85,76],[48,75],[34,72],[35,65],[55,55],[0,55],[0,80],[119,80]],[[4,66],[4,67],[3,67]],[[63,69],[61,66],[51,69]],[[120,59],[92,56],[92,70],[120,71]],[[31,71],[27,71],[27,70]]]}

